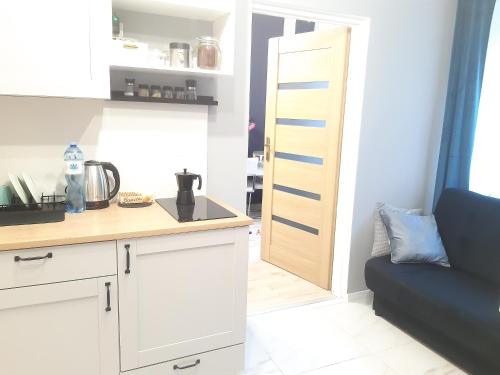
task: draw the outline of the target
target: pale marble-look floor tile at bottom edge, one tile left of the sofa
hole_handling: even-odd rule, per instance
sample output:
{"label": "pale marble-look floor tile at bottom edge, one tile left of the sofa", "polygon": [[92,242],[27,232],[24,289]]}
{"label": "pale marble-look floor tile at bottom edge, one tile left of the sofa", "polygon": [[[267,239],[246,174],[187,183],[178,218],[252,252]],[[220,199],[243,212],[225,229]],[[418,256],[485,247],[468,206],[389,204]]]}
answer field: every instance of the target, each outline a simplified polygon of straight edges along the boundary
{"label": "pale marble-look floor tile at bottom edge, one tile left of the sofa", "polygon": [[304,375],[399,375],[375,356],[356,358],[304,373]]}

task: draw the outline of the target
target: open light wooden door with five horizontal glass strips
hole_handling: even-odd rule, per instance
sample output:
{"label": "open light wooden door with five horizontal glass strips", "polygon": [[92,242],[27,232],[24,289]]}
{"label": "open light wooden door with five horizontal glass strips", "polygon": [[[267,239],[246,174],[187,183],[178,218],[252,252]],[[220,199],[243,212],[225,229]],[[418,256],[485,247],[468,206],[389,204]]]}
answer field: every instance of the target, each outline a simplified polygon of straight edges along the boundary
{"label": "open light wooden door with five horizontal glass strips", "polygon": [[331,288],[350,29],[269,41],[261,257]]}

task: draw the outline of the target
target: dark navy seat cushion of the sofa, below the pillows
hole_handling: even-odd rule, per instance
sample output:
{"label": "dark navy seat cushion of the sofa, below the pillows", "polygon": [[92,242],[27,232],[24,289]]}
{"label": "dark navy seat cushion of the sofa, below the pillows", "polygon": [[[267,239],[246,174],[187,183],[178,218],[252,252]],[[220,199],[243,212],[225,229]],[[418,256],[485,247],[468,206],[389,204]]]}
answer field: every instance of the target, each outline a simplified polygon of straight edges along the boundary
{"label": "dark navy seat cushion of the sofa, below the pillows", "polygon": [[433,264],[366,263],[366,283],[379,297],[469,350],[499,360],[500,290],[469,273]]}

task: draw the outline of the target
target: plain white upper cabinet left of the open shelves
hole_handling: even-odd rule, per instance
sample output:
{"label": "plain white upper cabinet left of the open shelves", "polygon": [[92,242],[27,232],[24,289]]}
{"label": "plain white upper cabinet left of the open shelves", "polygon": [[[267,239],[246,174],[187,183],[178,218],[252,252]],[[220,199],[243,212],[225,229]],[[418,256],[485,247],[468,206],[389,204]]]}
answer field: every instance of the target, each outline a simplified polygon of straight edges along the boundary
{"label": "plain white upper cabinet left of the open shelves", "polygon": [[109,97],[111,1],[2,1],[0,33],[0,95]]}

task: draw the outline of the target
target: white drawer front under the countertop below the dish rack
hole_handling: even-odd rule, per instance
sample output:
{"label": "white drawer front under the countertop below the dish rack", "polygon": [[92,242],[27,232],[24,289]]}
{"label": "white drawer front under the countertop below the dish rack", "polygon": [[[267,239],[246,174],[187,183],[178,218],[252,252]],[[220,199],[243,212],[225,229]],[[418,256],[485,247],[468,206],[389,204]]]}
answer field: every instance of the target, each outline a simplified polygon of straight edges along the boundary
{"label": "white drawer front under the countertop below the dish rack", "polygon": [[0,252],[0,289],[109,275],[115,241]]}

